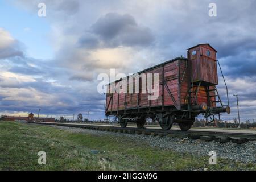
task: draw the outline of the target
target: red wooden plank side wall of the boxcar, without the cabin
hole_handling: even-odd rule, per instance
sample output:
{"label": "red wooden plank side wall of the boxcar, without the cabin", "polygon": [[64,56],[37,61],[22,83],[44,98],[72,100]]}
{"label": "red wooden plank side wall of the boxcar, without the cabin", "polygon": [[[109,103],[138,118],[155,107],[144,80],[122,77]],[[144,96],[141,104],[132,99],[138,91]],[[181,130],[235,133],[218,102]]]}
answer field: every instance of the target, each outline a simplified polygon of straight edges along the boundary
{"label": "red wooden plank side wall of the boxcar, without the cabin", "polygon": [[[187,59],[176,59],[167,64],[162,64],[159,67],[152,68],[142,73],[152,73],[152,89],[154,88],[154,74],[159,74],[159,85],[158,85],[158,93],[159,96],[156,100],[148,100],[148,90],[146,88],[142,88],[142,79],[139,80],[139,94],[138,93],[120,93],[118,97],[118,93],[107,94],[106,96],[106,112],[124,110],[124,109],[132,109],[132,108],[140,108],[140,107],[157,107],[157,106],[176,106],[179,109],[181,101],[180,101],[180,93],[182,98],[185,98],[185,94],[187,93],[187,74],[184,74],[185,69],[187,69]],[[181,64],[181,65],[179,65]],[[183,76],[184,74],[184,76]],[[164,76],[164,79],[163,79]],[[179,88],[179,76],[183,76],[183,88]],[[180,78],[181,79],[181,78]],[[167,85],[170,90],[174,101],[170,97],[166,86],[163,86],[163,81]],[[117,81],[119,82],[119,81]],[[115,85],[117,85],[115,82]],[[129,79],[127,79],[127,92],[128,92],[128,84]],[[135,88],[135,81],[133,82]],[[110,85],[109,85],[110,90]],[[142,93],[142,92],[147,93]],[[112,100],[110,99],[112,97]],[[119,101],[118,101],[119,100]],[[162,102],[164,101],[164,103]],[[108,107],[108,103],[109,107]],[[118,105],[118,107],[117,107]],[[107,108],[108,107],[108,108]]]}

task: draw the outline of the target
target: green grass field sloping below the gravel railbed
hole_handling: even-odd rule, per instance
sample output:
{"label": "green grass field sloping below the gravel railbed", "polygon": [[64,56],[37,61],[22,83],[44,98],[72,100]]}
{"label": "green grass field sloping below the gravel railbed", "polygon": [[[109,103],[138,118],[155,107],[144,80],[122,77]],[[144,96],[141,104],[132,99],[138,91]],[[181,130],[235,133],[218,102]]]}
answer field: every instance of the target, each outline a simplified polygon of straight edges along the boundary
{"label": "green grass field sloping below the gravel railbed", "polygon": [[[181,154],[129,137],[71,133],[50,126],[0,121],[1,170],[256,170],[255,164]],[[45,151],[46,165],[38,164]],[[91,150],[100,151],[91,154]]]}

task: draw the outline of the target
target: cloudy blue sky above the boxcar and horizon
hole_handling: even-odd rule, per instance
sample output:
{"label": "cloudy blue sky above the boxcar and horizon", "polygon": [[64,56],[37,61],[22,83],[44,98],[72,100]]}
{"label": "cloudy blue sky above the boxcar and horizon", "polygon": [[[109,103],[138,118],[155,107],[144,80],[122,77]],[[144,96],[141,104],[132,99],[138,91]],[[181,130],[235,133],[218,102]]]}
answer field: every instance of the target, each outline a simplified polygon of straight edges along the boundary
{"label": "cloudy blue sky above the boxcar and horizon", "polygon": [[[39,17],[39,3],[46,16]],[[209,16],[216,3],[217,16]],[[134,73],[209,43],[231,114],[256,119],[256,2],[0,0],[0,114],[103,119],[99,73]],[[218,71],[217,86],[226,102]]]}

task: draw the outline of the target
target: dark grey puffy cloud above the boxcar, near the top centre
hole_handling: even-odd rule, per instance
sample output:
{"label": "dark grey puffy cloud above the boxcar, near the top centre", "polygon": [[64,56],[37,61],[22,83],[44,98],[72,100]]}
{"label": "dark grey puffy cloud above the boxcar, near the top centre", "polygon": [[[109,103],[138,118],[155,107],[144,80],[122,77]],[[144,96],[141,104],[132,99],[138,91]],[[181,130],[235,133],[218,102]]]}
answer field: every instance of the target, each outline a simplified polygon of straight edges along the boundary
{"label": "dark grey puffy cloud above the boxcar, near the top centre", "polygon": [[96,47],[100,41],[104,47],[150,46],[154,36],[150,28],[137,24],[129,14],[108,13],[99,18],[90,28],[95,36],[82,36],[79,44],[84,47]]}

